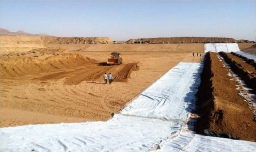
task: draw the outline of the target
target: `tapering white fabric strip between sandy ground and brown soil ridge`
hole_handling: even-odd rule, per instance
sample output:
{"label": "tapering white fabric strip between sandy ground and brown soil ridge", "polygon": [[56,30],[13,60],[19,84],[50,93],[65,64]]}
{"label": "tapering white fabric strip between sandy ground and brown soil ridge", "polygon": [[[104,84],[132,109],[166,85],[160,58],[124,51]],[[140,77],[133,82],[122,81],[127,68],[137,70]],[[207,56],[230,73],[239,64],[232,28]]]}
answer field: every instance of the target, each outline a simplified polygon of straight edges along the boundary
{"label": "tapering white fabric strip between sandy ground and brown soil ridge", "polygon": [[[200,63],[179,63],[127,105],[121,114],[164,119],[187,119],[195,108]],[[190,106],[189,106],[190,105]]]}

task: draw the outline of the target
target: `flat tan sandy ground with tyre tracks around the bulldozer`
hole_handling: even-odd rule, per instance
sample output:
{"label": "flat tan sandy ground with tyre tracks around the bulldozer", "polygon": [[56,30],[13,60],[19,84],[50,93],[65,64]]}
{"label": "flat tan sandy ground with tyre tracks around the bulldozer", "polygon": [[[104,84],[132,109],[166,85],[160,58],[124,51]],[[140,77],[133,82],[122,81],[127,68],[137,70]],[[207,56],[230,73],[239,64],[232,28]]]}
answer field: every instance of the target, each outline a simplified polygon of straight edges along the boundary
{"label": "flat tan sandy ground with tyre tracks around the bulldozer", "polygon": [[[201,59],[191,52],[123,52],[123,65],[101,66],[110,52],[74,53],[97,61],[1,79],[1,127],[108,120],[177,63]],[[104,72],[120,71],[127,78],[103,84]]]}

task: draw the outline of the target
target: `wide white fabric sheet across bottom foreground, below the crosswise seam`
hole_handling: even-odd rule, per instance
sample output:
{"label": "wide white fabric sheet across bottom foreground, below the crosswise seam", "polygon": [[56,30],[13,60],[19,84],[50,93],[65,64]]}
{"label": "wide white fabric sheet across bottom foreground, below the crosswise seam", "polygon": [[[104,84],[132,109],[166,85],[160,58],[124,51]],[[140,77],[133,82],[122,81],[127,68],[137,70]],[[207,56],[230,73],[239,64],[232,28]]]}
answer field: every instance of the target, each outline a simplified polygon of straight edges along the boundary
{"label": "wide white fabric sheet across bottom foreground, below the crosswise seam", "polygon": [[1,152],[147,151],[181,129],[182,122],[115,115],[106,122],[1,128]]}

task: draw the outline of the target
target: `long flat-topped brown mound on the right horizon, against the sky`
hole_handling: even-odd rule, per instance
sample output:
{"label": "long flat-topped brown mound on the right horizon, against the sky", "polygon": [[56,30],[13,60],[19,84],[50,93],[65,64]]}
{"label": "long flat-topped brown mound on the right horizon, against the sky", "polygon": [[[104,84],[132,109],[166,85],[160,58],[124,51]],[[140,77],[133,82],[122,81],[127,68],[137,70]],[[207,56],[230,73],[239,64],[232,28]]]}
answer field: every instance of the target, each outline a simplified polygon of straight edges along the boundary
{"label": "long flat-topped brown mound on the right horizon, against the sky", "polygon": [[233,38],[206,38],[206,37],[173,37],[173,38],[142,38],[130,39],[126,43],[236,43]]}

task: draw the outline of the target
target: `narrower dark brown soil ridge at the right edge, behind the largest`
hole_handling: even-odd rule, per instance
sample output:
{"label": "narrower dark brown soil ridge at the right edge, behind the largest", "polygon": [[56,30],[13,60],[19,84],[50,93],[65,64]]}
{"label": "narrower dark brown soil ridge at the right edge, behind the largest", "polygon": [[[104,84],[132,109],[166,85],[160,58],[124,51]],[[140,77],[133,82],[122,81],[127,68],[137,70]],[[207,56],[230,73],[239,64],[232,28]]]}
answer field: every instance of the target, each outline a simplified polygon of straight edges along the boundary
{"label": "narrower dark brown soil ridge at the right edge, behind the largest", "polygon": [[237,56],[233,54],[219,52],[219,54],[224,58],[225,62],[229,64],[231,70],[238,75],[246,85],[253,89],[253,93],[256,91],[256,70],[255,67],[245,63]]}

